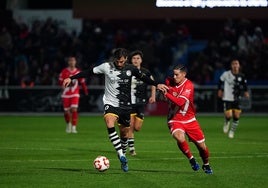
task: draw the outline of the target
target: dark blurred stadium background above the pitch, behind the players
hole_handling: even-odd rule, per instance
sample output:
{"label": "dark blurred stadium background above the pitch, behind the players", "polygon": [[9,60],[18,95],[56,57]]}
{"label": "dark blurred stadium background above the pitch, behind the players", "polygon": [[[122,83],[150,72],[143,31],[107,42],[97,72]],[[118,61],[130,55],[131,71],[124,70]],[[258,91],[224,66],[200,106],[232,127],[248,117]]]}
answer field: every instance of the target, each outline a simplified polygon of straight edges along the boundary
{"label": "dark blurred stadium background above the pitch, behind the players", "polygon": [[[216,85],[238,57],[252,94],[243,109],[267,113],[267,1],[220,2],[1,0],[0,112],[61,112],[58,76],[67,55],[87,69],[124,47],[142,50],[143,65],[160,82],[185,64],[198,112],[222,112]],[[87,84],[79,110],[101,113],[103,77]],[[164,114],[162,105],[148,105],[147,114]]]}

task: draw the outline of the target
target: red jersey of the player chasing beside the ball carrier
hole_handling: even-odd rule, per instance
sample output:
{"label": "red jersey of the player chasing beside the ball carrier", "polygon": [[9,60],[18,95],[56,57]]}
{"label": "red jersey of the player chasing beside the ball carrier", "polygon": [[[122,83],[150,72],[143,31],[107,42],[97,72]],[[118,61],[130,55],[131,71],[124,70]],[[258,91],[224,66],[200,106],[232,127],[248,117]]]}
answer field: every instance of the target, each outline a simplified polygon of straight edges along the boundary
{"label": "red jersey of the player chasing beside the ball carrier", "polygon": [[177,85],[173,78],[167,78],[166,85],[170,87],[166,94],[169,99],[168,122],[189,123],[195,121],[193,83],[185,79]]}

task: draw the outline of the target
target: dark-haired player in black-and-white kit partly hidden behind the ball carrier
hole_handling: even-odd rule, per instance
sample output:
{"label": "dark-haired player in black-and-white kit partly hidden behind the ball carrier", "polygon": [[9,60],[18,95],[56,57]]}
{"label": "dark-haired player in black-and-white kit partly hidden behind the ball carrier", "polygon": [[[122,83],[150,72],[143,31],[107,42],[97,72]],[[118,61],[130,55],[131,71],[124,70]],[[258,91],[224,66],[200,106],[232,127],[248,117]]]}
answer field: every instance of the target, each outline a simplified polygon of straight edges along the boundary
{"label": "dark-haired player in black-and-white kit partly hidden behind the ball carrier", "polygon": [[[137,67],[143,74],[150,77],[152,80],[154,79],[151,72],[142,67],[142,58],[143,53],[139,50],[133,51],[130,56],[130,62]],[[155,102],[155,86],[151,86],[151,96],[148,100],[148,85],[143,81],[137,79],[135,76],[132,77],[131,81],[131,103],[132,103],[132,113],[130,118],[130,128],[129,128],[129,138],[128,138],[128,146],[130,155],[136,155],[135,147],[134,147],[134,132],[140,131],[143,120],[144,120],[144,111],[145,105],[149,103]]]}

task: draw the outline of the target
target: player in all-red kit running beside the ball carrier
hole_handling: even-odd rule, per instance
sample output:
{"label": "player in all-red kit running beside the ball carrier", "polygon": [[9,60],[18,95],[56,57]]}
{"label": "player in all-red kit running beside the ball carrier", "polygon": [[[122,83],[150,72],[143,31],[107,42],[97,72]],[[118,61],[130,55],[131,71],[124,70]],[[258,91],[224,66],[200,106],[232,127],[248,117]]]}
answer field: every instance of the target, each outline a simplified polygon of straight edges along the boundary
{"label": "player in all-red kit running beside the ball carrier", "polygon": [[185,135],[196,145],[203,161],[202,169],[204,172],[212,174],[205,136],[195,117],[194,85],[186,78],[186,74],[187,68],[184,65],[177,65],[173,69],[173,78],[166,79],[166,85],[169,86],[169,89],[163,93],[169,103],[168,128],[177,141],[179,149],[189,159],[192,169],[197,171],[200,167],[191,153]]}

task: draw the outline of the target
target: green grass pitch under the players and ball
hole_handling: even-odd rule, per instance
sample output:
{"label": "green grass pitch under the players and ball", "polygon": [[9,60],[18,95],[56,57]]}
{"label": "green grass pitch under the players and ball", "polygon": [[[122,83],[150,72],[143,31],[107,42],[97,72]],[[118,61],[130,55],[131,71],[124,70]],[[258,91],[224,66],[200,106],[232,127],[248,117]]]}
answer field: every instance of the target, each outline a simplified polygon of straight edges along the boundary
{"label": "green grass pitch under the players and ball", "polygon": [[[102,116],[80,116],[78,134],[66,134],[63,116],[0,116],[0,187],[245,188],[268,185],[268,117],[243,114],[234,139],[223,116],[197,116],[210,149],[213,175],[194,172],[170,136],[165,117],[145,117],[135,134],[137,156],[120,169]],[[190,147],[200,164],[194,145]],[[110,169],[98,172],[104,155]]]}

